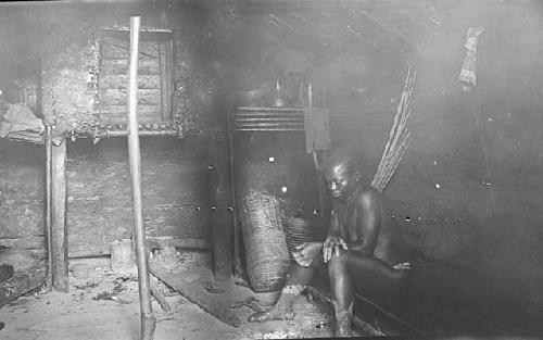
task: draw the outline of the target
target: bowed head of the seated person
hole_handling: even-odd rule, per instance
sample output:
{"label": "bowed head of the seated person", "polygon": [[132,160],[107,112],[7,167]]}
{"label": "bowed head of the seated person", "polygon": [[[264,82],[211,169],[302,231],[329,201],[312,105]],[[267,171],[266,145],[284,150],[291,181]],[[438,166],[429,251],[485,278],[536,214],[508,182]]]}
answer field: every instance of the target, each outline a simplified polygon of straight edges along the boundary
{"label": "bowed head of the seated person", "polygon": [[323,164],[325,180],[334,198],[346,198],[362,179],[363,155],[355,146],[333,149]]}

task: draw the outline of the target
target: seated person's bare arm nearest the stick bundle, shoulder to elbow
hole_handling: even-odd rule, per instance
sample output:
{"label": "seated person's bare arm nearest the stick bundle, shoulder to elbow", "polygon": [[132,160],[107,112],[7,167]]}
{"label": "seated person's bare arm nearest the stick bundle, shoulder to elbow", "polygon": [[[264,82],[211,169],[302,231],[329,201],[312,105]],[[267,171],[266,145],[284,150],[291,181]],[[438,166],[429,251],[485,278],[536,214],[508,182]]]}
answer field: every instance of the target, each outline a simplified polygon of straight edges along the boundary
{"label": "seated person's bare arm nearest the stick bundle, shoulder to elbow", "polygon": [[350,250],[374,254],[381,229],[381,200],[379,193],[367,191],[356,200],[357,228],[361,241],[349,243]]}

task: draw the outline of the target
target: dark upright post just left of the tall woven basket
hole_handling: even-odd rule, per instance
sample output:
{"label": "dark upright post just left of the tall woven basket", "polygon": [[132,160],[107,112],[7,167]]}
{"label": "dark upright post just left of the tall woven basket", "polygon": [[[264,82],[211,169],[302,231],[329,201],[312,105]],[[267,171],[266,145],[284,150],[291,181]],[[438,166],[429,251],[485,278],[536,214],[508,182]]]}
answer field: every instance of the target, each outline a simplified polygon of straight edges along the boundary
{"label": "dark upright post just left of the tall woven basket", "polygon": [[230,178],[228,166],[228,143],[225,135],[215,135],[211,141],[211,200],[213,268],[215,278],[228,279],[232,275],[232,214],[230,203]]}

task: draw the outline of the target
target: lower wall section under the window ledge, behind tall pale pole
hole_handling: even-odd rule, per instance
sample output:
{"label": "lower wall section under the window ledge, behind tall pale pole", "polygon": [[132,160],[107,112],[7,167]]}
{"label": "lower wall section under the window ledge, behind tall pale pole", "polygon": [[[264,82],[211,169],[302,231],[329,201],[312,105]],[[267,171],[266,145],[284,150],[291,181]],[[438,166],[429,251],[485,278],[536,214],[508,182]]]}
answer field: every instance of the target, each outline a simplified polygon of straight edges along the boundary
{"label": "lower wall section under the window ledge, behind tall pale pole", "polygon": [[[142,138],[143,221],[148,237],[211,241],[206,138]],[[110,253],[134,232],[126,138],[68,143],[70,256]]]}

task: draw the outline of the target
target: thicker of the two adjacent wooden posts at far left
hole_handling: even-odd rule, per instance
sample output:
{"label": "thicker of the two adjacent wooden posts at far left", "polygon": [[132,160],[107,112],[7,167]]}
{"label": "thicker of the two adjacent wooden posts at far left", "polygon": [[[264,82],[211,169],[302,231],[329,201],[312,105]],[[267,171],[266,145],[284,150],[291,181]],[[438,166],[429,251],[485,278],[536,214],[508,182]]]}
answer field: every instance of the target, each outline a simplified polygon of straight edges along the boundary
{"label": "thicker of the two adjacent wooden posts at far left", "polygon": [[66,141],[51,150],[51,253],[52,282],[58,291],[68,292],[66,230]]}

